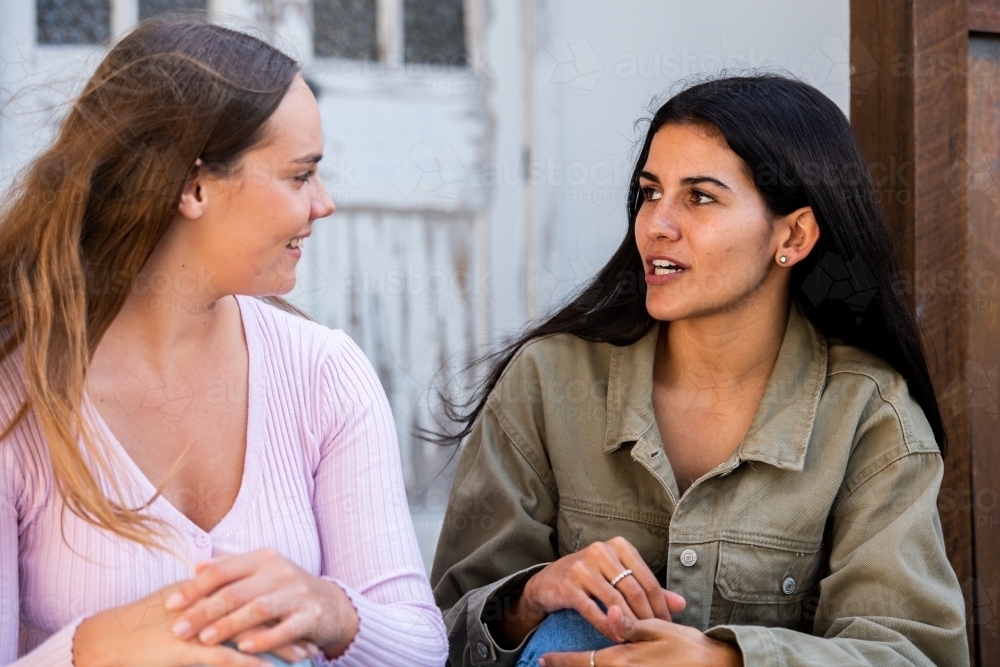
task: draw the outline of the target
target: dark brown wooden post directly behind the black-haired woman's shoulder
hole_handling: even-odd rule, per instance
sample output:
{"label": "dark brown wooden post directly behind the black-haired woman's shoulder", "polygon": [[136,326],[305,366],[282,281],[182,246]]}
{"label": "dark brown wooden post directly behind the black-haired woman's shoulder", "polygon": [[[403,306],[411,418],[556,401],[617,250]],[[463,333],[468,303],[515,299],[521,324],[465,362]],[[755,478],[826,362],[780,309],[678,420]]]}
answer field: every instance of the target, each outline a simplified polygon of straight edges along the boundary
{"label": "dark brown wooden post directly behind the black-haired woman's shoulder", "polygon": [[[966,146],[968,0],[851,0],[851,125],[899,248],[939,397],[969,355],[969,313],[947,289],[968,270],[967,205],[956,187]],[[872,65],[872,63],[874,63]],[[875,76],[871,76],[874,70]],[[951,273],[948,273],[951,272]],[[972,607],[975,584],[968,422],[944,410],[951,448],[939,509]],[[975,626],[968,625],[970,650]]]}

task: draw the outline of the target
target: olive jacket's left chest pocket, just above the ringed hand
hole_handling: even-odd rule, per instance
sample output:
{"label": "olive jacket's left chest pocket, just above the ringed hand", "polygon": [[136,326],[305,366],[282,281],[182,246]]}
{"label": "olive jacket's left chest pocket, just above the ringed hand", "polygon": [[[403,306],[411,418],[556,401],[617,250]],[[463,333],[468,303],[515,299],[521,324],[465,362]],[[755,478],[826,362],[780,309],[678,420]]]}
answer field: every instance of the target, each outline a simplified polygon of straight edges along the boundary
{"label": "olive jacket's left chest pocket, just above the ringed hand", "polygon": [[666,516],[628,517],[621,508],[569,501],[559,507],[556,535],[560,557],[594,542],[623,537],[636,548],[649,569],[657,572],[667,560],[669,519]]}

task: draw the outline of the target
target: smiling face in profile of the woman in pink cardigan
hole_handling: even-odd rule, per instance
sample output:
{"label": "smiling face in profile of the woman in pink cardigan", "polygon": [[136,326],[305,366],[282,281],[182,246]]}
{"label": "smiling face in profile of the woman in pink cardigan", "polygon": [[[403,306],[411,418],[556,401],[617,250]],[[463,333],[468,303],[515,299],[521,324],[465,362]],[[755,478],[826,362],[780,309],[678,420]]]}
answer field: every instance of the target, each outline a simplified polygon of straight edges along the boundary
{"label": "smiling face in profile of the woman in pink cardigan", "polygon": [[322,153],[316,99],[296,77],[237,173],[203,180],[209,205],[197,246],[215,291],[263,296],[295,286],[302,241],[335,208],[316,169]]}

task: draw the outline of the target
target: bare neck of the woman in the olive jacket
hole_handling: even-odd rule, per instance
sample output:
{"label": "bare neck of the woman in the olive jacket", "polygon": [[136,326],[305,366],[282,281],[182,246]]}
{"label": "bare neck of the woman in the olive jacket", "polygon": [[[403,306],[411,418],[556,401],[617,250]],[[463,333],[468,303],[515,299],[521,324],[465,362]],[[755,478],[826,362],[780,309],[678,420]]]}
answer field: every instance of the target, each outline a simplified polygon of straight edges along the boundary
{"label": "bare neck of the woman in the olive jacket", "polygon": [[676,388],[716,395],[766,385],[788,322],[788,297],[754,299],[736,308],[660,327],[654,374]]}

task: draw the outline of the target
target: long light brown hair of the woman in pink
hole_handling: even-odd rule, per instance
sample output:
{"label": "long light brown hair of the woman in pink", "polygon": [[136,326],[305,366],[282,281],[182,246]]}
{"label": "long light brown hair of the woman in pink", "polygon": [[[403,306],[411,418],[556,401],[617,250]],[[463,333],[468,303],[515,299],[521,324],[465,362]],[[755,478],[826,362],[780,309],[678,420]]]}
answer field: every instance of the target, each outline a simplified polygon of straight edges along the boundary
{"label": "long light brown hair of the woman in pink", "polygon": [[66,507],[141,544],[158,546],[159,522],[106,495],[88,465],[119,489],[84,419],[87,369],[195,162],[235,173],[298,69],[265,42],[203,21],[141,24],[110,50],[0,210],[0,363],[20,350],[24,378],[0,446],[32,414]]}

